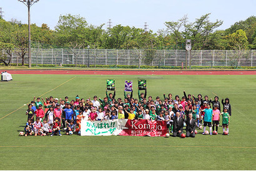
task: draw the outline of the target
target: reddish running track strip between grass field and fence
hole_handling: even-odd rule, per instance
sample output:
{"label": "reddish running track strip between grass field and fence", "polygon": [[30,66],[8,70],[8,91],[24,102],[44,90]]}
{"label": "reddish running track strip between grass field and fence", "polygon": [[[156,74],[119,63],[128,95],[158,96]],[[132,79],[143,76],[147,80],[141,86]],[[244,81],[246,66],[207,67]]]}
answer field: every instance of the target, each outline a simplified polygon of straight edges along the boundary
{"label": "reddish running track strip between grass field and fence", "polygon": [[226,71],[149,71],[149,70],[0,70],[11,74],[42,75],[256,75],[256,70]]}

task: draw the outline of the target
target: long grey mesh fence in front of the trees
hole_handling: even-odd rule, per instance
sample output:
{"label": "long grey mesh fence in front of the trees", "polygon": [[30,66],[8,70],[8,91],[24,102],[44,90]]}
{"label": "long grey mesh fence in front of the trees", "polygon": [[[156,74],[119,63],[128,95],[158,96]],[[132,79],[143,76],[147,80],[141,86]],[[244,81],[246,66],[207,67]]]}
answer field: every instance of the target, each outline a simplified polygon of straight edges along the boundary
{"label": "long grey mesh fence in front of the trees", "polygon": [[[32,49],[34,64],[256,67],[256,50]],[[191,59],[191,60],[190,60]],[[189,61],[190,60],[190,61]],[[11,63],[21,63],[12,53]],[[28,63],[27,55],[25,63]]]}

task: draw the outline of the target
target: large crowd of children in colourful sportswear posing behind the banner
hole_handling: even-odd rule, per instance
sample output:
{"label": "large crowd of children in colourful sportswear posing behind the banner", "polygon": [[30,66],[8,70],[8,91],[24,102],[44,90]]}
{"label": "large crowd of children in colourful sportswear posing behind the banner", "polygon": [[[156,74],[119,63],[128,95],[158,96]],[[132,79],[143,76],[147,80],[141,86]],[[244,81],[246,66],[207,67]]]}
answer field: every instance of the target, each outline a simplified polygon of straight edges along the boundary
{"label": "large crowd of children in colourful sportswear posing behind the banner", "polygon": [[204,99],[200,94],[196,98],[194,95],[187,96],[184,91],[184,96],[181,99],[179,95],[172,99],[172,94],[167,97],[164,94],[164,100],[161,100],[159,96],[153,100],[152,96],[146,99],[147,89],[145,93],[140,93],[138,90],[138,98],[133,98],[133,90],[130,93],[124,91],[124,101],[122,98],[116,100],[115,96],[116,91],[113,94],[106,90],[106,97],[99,98],[99,101],[97,96],[94,96],[93,100],[91,98],[85,100],[80,99],[77,95],[76,99],[71,101],[67,96],[65,99],[50,96],[46,100],[42,98],[42,101],[41,98],[36,99],[34,97],[34,100],[28,104],[26,111],[25,136],[32,135],[33,132],[34,136],[47,136],[49,134],[61,136],[61,128],[66,134],[69,134],[69,131],[74,131],[76,127],[80,129],[82,119],[87,121],[108,119],[166,121],[169,132],[172,132],[176,113],[179,113],[180,117],[186,118],[192,113],[192,118],[197,121],[197,127],[201,127],[202,121],[204,121],[204,132],[209,126],[210,134],[212,134],[212,128],[218,131],[220,116],[222,115],[223,131],[226,127],[229,132],[231,116],[229,98],[222,99],[223,112],[221,113],[218,96],[215,96],[214,100],[209,100],[206,95]]}

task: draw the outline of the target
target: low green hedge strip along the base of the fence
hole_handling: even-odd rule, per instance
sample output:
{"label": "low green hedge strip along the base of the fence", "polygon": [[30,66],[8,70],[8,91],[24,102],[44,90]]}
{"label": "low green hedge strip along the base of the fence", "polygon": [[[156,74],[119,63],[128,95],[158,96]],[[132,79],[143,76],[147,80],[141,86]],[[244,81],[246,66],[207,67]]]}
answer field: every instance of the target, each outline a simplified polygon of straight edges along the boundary
{"label": "low green hedge strip along the base of the fence", "polygon": [[[1,66],[4,66],[4,63],[0,63]],[[11,63],[12,66],[16,66],[16,63]],[[18,65],[21,67],[21,63]],[[25,63],[25,67],[28,67],[28,64]],[[32,67],[36,67],[36,64],[32,63]],[[37,64],[37,67],[55,67],[54,64]],[[57,65],[57,67],[59,67]],[[75,67],[74,64],[64,64],[62,67]],[[87,65],[77,65],[78,68],[87,68]],[[90,68],[94,68],[94,65],[90,65]],[[136,69],[139,68],[137,65],[96,65],[96,68],[130,68],[130,69]],[[175,66],[149,66],[149,65],[141,65],[141,69],[172,69],[172,70],[181,70],[182,67],[175,67]],[[185,67],[184,67],[185,68]],[[189,67],[187,67],[189,69]],[[226,67],[226,66],[191,66],[191,69],[193,70],[200,70],[200,69],[256,69],[256,67]]]}

